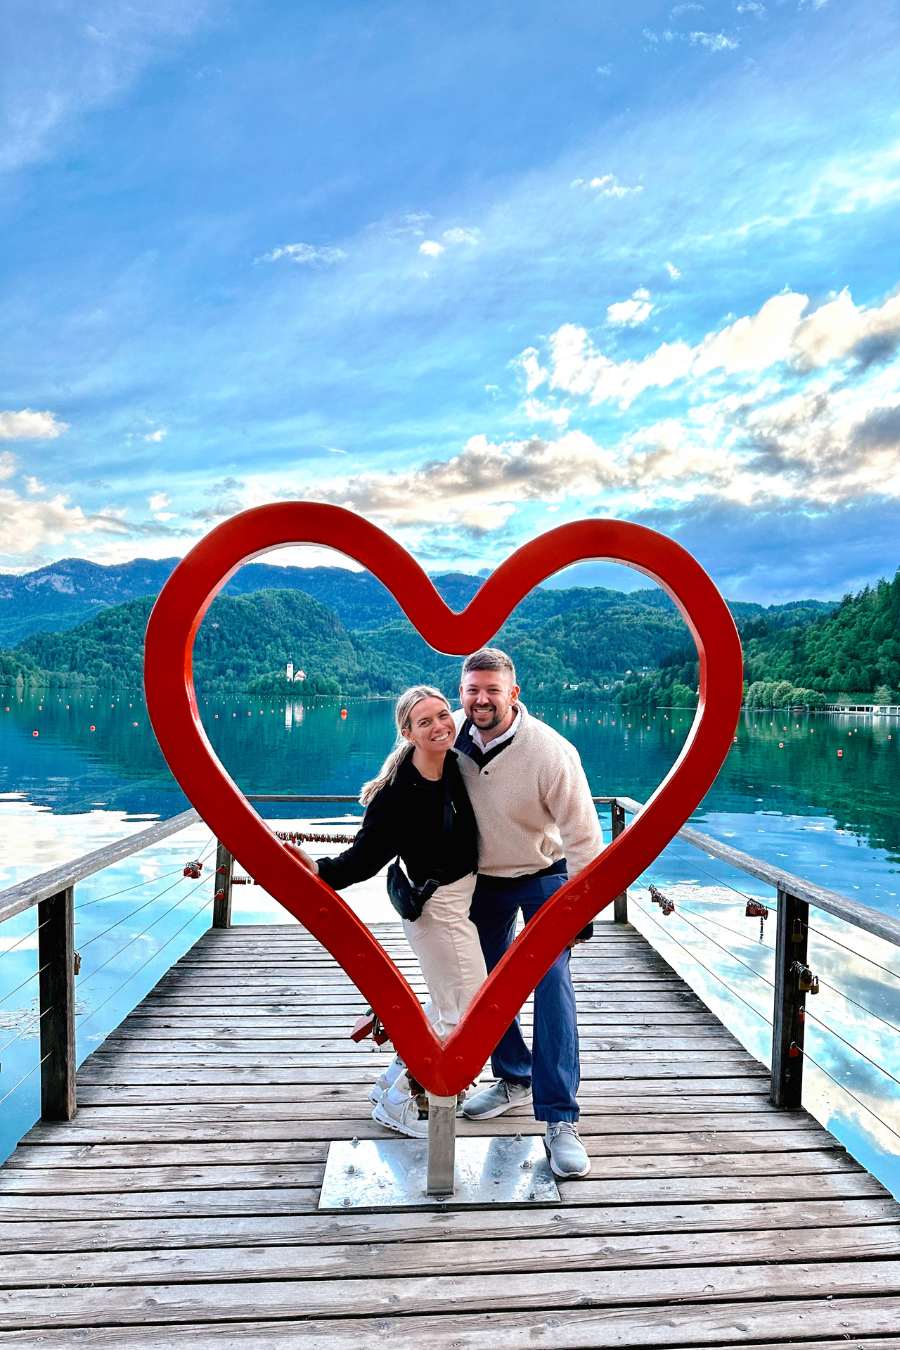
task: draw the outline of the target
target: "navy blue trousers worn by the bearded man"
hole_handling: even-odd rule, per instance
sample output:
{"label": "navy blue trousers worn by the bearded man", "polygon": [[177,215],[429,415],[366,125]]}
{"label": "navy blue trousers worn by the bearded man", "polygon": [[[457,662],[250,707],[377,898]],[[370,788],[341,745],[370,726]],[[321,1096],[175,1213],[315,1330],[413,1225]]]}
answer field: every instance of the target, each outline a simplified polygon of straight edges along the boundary
{"label": "navy blue trousers worn by the bearded man", "polygon": [[[518,911],[528,923],[567,880],[563,869],[549,876],[479,876],[470,917],[482,940],[488,972],[513,941]],[[532,1087],[538,1120],[578,1120],[579,1116],[575,1095],[582,1071],[569,957],[568,949],[557,956],[534,990],[533,1052],[515,1018],[491,1056],[498,1079]]]}

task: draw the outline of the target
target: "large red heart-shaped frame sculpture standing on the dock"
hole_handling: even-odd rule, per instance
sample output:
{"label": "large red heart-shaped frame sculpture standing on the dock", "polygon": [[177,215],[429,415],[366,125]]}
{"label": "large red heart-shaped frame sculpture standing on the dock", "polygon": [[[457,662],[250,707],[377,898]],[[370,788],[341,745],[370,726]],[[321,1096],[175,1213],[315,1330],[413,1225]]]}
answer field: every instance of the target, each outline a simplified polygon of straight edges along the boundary
{"label": "large red heart-shaped frame sculpture standing on the dock", "polygon": [[[560,887],[519,934],[443,1045],[381,944],[275,838],[225,774],[200,721],[192,653],[206,609],[243,562],[290,544],[324,544],[355,558],[387,586],[440,652],[464,655],[483,647],[534,586],[588,558],[627,563],[658,580],[698,648],[700,698],[676,763],[627,829]],[[188,798],[250,875],[341,964],[381,1014],[413,1075],[444,1096],[472,1081],[567,942],[640,876],[699,805],[731,744],[741,679],[741,643],[725,601],[680,544],[652,529],[618,520],[561,525],[513,554],[456,614],[389,535],[352,512],[312,502],[258,506],[206,535],[162,589],[147,625],[144,656],[150,718]]]}

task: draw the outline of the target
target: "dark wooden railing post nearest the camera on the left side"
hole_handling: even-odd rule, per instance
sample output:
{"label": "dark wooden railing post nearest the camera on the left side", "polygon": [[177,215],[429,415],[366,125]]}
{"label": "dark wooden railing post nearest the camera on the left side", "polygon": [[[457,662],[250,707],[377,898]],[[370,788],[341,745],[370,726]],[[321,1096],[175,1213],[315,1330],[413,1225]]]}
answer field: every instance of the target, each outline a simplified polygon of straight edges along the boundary
{"label": "dark wooden railing post nearest the camera on the left side", "polygon": [[38,903],[40,1118],[76,1114],[74,887]]}

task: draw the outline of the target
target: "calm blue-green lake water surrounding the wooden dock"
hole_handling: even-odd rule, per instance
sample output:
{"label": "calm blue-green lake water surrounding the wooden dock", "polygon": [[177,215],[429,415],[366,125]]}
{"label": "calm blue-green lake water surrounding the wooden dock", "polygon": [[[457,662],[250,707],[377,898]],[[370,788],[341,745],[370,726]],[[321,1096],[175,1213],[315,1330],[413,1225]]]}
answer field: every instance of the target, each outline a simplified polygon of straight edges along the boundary
{"label": "calm blue-green lake water surrounding the wooden dock", "polygon": [[[578,745],[598,795],[644,799],[691,722],[690,713],[530,706]],[[345,718],[335,701],[247,697],[210,702],[202,713],[216,752],[247,792],[355,794],[393,738],[391,705],[378,701],[349,703]],[[900,917],[899,741],[896,720],[745,714],[692,824]],[[0,693],[0,888],[185,806],[139,697],[54,694],[40,702]],[[273,803],[263,811],[287,821],[344,807]],[[609,836],[606,810],[602,819]],[[213,846],[201,826],[77,887],[80,1058],[208,926]],[[194,856],[206,863],[198,882],[181,875]],[[650,882],[675,899],[673,915],[663,918],[649,902]],[[762,941],[760,921],[745,917],[748,896],[772,910]],[[364,917],[393,911],[385,902]],[[768,1061],[772,890],[675,842],[630,890],[630,917]],[[236,922],[271,919],[278,915],[258,891],[235,892]],[[0,929],[0,1157],[38,1111],[34,926],[31,911]],[[815,913],[811,929],[822,992],[808,999],[806,1104],[900,1195],[900,952],[826,914]]]}

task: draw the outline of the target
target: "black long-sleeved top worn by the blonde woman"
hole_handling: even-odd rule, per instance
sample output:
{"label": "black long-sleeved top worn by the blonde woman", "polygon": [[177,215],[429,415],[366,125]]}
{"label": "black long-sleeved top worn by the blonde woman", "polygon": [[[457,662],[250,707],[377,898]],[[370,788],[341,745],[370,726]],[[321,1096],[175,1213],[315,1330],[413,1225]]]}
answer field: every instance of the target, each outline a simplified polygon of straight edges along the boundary
{"label": "black long-sleeved top worn by the blonde woman", "polygon": [[407,755],[394,782],[368,803],[351,846],[318,859],[318,875],[341,891],[375,876],[398,855],[413,886],[447,886],[478,871],[475,814],[453,751],[439,783],[424,779]]}

